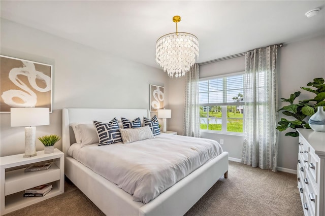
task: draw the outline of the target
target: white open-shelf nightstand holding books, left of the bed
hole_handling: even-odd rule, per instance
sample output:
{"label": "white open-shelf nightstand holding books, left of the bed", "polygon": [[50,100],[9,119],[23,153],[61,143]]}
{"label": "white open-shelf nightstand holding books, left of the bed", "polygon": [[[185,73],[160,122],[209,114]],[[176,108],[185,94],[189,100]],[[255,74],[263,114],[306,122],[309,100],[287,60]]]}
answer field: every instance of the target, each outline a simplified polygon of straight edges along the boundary
{"label": "white open-shelf nightstand holding books, left of the bed", "polygon": [[[64,193],[64,154],[54,149],[54,153],[24,158],[24,154],[0,158],[0,212],[1,215],[43,201]],[[53,162],[48,170],[24,172],[30,165]],[[44,197],[23,197],[24,190],[43,184],[52,184],[52,190]]]}

